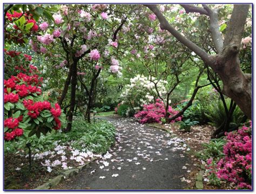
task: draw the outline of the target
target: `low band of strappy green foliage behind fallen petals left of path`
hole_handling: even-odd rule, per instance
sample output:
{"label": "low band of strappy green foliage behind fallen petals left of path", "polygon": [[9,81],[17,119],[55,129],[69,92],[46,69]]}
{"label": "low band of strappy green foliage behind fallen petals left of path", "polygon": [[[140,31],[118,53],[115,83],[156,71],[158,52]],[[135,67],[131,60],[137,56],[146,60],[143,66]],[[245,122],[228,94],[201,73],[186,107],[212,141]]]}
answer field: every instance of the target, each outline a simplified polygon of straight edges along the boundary
{"label": "low band of strappy green foliage behind fallen petals left of path", "polygon": [[[55,143],[58,143],[70,144],[73,148],[79,150],[85,148],[94,153],[104,153],[115,141],[116,129],[107,121],[87,123],[82,116],[76,117],[72,129],[69,133],[58,130],[46,136],[41,136],[39,139],[36,136],[31,136],[30,138],[19,138],[18,142],[5,142],[4,151],[15,153],[17,150],[25,149],[26,143],[31,143],[32,151],[35,149],[48,151],[55,147]],[[85,147],[82,147],[82,145],[85,145]]]}

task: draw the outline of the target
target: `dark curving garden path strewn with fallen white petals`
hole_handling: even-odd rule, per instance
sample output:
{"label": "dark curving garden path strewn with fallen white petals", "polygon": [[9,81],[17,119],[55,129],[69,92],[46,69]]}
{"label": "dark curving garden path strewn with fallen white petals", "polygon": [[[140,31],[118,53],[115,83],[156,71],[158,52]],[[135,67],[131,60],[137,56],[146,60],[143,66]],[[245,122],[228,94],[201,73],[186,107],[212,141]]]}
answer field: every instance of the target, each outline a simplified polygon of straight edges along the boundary
{"label": "dark curving garden path strewn with fallen white petals", "polygon": [[116,126],[117,142],[103,158],[63,183],[57,190],[181,190],[190,161],[186,144],[166,131],[132,119],[106,117]]}

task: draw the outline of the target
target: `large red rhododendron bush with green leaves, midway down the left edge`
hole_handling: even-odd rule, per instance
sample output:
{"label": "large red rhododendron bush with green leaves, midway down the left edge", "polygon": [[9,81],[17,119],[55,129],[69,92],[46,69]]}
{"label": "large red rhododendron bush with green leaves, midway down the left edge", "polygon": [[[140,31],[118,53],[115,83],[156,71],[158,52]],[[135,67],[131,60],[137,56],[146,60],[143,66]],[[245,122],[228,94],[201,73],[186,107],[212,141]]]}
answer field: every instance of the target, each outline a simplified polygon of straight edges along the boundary
{"label": "large red rhododendron bush with green leaves, midway down the left edge", "polygon": [[[5,50],[4,140],[11,141],[29,130],[28,136],[60,129],[64,114],[58,103],[43,99],[42,77],[30,64],[31,56]],[[12,67],[12,69],[10,69]],[[12,74],[12,75],[11,75]]]}

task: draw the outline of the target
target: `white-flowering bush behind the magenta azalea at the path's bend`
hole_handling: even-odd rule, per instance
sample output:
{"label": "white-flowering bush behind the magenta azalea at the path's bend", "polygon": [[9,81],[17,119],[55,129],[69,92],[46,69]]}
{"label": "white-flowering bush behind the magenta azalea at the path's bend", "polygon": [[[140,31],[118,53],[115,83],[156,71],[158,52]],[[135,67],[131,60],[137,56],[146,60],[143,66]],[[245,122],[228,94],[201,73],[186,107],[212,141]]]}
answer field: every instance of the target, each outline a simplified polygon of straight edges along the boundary
{"label": "white-flowering bush behind the magenta azalea at the path's bend", "polygon": [[[132,105],[132,107],[142,107],[145,104],[152,103],[158,98],[157,91],[163,98],[166,95],[165,86],[168,84],[164,80],[156,80],[156,78],[147,78],[144,75],[136,75],[130,79],[131,84],[124,87],[124,91],[120,95],[123,99],[122,103]],[[156,86],[157,85],[157,90]]]}

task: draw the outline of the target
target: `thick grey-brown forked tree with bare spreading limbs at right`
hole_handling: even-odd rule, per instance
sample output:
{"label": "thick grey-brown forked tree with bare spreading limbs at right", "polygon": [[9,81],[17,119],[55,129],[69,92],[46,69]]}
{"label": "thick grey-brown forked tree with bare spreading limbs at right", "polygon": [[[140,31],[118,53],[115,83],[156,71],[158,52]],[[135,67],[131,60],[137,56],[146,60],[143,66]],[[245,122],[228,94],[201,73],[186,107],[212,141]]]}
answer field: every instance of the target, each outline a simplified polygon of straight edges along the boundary
{"label": "thick grey-brown forked tree with bare spreading limbs at right", "polygon": [[214,72],[218,73],[221,81],[223,81],[224,94],[233,99],[241,108],[242,112],[252,119],[252,76],[251,74],[242,72],[239,61],[242,33],[244,32],[250,4],[234,5],[230,22],[227,25],[225,39],[223,39],[219,30],[219,9],[211,9],[210,6],[206,4],[203,5],[203,8],[193,5],[182,5],[187,13],[198,12],[201,15],[210,17],[210,32],[217,54],[207,53],[197,44],[179,33],[168,22],[157,5],[148,4],[145,6],[157,16],[162,30],[169,31],[180,43],[195,52],[207,66],[210,66]]}

